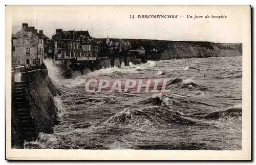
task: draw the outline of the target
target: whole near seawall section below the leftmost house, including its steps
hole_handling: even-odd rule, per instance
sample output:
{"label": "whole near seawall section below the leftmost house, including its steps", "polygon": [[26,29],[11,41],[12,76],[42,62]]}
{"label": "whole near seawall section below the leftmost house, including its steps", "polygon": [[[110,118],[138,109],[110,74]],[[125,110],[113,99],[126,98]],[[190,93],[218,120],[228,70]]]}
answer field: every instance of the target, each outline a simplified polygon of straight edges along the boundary
{"label": "whole near seawall section below the leftmost house, including its steps", "polygon": [[57,91],[47,69],[13,74],[12,91],[12,147],[23,148],[25,140],[35,141],[40,132],[53,133]]}

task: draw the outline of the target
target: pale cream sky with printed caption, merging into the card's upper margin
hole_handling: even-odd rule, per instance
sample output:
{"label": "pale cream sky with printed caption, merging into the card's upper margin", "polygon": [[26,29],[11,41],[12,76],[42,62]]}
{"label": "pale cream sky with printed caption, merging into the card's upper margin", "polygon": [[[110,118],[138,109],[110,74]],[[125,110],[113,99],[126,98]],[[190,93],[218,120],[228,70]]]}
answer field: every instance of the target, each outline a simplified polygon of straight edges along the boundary
{"label": "pale cream sky with printed caption, merging into the card's upper margin", "polygon": [[[12,9],[12,33],[22,23],[43,30],[49,38],[56,29],[89,30],[92,37],[174,41],[242,42],[248,29],[245,7],[215,6],[23,6]],[[249,9],[249,8],[247,8]],[[206,15],[227,18],[205,18]],[[130,19],[130,15],[136,18]],[[139,19],[138,15],[178,15],[172,19]],[[193,16],[188,19],[187,15]],[[195,15],[203,18],[194,19]],[[180,16],[183,16],[180,17]]]}

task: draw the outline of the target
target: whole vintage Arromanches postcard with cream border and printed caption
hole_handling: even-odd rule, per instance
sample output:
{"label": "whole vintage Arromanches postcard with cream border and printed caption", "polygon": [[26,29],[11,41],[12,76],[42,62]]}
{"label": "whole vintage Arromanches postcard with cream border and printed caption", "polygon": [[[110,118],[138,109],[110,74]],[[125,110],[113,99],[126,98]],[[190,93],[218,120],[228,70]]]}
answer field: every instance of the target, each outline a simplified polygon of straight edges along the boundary
{"label": "whole vintage Arromanches postcard with cream border and printed caption", "polygon": [[250,160],[250,6],[6,6],[6,159]]}

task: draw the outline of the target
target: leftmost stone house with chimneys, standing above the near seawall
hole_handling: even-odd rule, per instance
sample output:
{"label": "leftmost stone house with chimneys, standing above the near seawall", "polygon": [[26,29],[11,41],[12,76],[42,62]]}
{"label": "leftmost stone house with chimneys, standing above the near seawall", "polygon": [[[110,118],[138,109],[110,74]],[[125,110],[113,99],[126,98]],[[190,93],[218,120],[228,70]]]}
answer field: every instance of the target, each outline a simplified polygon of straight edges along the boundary
{"label": "leftmost stone house with chimneys, standing above the near seawall", "polygon": [[22,24],[22,29],[12,38],[13,48],[12,65],[41,65],[44,61],[44,39],[37,33],[34,26]]}

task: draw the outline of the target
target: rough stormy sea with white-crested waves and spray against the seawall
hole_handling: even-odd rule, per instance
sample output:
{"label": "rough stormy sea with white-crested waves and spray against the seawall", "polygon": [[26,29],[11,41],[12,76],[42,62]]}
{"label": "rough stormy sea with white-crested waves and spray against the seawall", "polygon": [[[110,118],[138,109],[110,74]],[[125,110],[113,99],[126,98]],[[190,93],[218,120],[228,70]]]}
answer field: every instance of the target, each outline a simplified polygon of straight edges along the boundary
{"label": "rough stormy sea with white-crested waves and spray against the seawall", "polygon": [[[241,150],[242,57],[148,61],[64,79],[45,62],[60,123],[42,149]],[[91,79],[164,79],[168,93],[87,92]],[[150,87],[152,88],[152,87]],[[26,146],[26,145],[25,145]]]}

